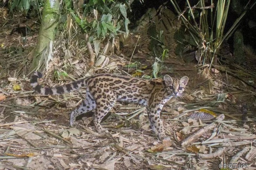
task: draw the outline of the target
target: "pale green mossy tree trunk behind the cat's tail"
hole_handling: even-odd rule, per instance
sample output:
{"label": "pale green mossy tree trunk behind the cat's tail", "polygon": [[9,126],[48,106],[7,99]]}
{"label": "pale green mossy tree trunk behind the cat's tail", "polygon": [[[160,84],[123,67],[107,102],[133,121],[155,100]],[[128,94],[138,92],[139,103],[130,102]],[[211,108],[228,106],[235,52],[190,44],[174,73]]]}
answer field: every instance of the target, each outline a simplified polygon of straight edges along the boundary
{"label": "pale green mossy tree trunk behind the cat's tail", "polygon": [[30,72],[45,67],[53,54],[52,45],[56,34],[56,19],[59,14],[59,0],[45,0],[43,7],[42,22],[39,30],[36,47],[32,52],[33,60],[30,66]]}

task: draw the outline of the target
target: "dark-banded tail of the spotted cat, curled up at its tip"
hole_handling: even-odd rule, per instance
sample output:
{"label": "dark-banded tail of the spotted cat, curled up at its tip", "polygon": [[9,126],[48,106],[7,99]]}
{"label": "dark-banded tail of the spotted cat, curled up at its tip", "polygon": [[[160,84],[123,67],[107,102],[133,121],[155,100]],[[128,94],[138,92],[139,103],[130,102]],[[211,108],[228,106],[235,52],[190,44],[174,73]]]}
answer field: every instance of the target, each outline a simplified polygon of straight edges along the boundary
{"label": "dark-banded tail of the spotted cat, curled up at its tip", "polygon": [[68,93],[71,91],[75,91],[82,86],[85,86],[85,80],[81,79],[63,86],[57,86],[57,87],[42,87],[38,84],[37,79],[42,78],[43,74],[36,71],[34,72],[30,77],[30,85],[32,86],[33,90],[35,90],[37,93],[42,95],[60,95],[63,93]]}

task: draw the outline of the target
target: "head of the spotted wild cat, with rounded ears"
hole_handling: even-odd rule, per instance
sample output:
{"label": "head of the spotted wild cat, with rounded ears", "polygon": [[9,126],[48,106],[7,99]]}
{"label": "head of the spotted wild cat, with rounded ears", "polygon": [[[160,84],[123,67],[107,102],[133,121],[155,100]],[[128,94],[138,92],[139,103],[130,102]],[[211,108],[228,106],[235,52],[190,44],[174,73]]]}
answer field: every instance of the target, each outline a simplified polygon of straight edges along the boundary
{"label": "head of the spotted wild cat, with rounded ears", "polygon": [[175,79],[171,78],[169,75],[165,75],[164,82],[167,86],[168,93],[174,96],[180,96],[188,83],[188,77],[184,76],[181,79]]}

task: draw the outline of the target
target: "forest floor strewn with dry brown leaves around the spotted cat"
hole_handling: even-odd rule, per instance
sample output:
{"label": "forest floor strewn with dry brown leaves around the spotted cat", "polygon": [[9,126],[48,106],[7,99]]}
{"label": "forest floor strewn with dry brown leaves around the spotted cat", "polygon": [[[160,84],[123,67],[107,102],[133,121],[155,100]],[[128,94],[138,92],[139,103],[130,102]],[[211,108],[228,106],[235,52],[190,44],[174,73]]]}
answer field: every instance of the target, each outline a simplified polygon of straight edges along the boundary
{"label": "forest floor strewn with dry brown leaves around the spotted cat", "polygon": [[[198,68],[196,62],[185,63],[176,56],[175,40],[168,38],[169,57],[160,75],[189,77],[183,97],[169,101],[162,110],[165,133],[171,140],[158,140],[149,128],[145,108],[127,103],[117,103],[102,122],[109,133],[97,133],[91,117],[70,128],[69,113],[81,102],[85,90],[62,96],[36,95],[27,70],[38,31],[24,42],[23,26],[18,26],[18,21],[11,24],[1,10],[0,170],[220,169],[225,165],[256,169],[255,68],[246,64]],[[24,22],[30,26],[34,23],[33,19]],[[147,66],[141,66],[143,74],[152,74],[155,59],[148,50],[150,37],[138,33],[127,41],[119,52],[121,57],[109,57],[116,68],[97,69],[97,73],[136,73],[136,68],[124,67],[136,49],[131,62]],[[55,67],[62,69],[61,61],[54,61]],[[88,68],[84,61],[89,59],[78,59],[79,67]],[[78,79],[79,75],[72,77]],[[71,82],[54,81],[53,77],[53,72],[48,72],[40,83],[55,86]]]}

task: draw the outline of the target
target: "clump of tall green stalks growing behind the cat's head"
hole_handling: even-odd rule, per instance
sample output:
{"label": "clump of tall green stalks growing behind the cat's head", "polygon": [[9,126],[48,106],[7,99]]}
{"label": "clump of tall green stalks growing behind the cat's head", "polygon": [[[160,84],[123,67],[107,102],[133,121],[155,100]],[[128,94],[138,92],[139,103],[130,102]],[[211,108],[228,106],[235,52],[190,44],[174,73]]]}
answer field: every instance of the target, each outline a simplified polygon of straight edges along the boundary
{"label": "clump of tall green stalks growing behind the cat's head", "polygon": [[206,6],[205,0],[199,0],[196,6],[191,6],[187,0],[186,10],[182,11],[176,0],[171,0],[183,27],[179,43],[183,47],[191,45],[196,47],[198,64],[216,62],[221,44],[227,40],[236,30],[240,20],[246,13],[244,12],[233,23],[232,27],[225,33],[227,14],[229,12],[230,0],[219,0],[217,3],[211,0],[211,5]]}

